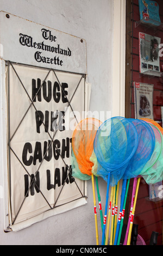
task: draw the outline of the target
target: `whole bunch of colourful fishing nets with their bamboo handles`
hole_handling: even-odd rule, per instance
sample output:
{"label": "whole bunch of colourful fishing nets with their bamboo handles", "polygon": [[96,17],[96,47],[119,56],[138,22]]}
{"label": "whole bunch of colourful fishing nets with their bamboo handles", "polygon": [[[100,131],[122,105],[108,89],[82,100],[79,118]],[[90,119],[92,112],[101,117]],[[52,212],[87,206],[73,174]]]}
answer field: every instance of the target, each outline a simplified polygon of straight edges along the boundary
{"label": "whole bunch of colourful fishing nets with their bamboo handles", "polygon": [[[123,241],[123,245],[130,245],[140,179],[143,178],[147,184],[163,180],[162,136],[162,127],[147,118],[113,117],[104,123],[95,118],[86,118],[78,123],[72,136],[72,175],[80,180],[92,180],[97,245],[99,238],[94,176],[101,215],[102,245],[108,245],[108,242],[109,245],[120,245],[129,183],[130,179],[134,179],[130,215]],[[99,177],[107,183],[104,216],[98,187]],[[122,191],[117,220],[120,181]]]}

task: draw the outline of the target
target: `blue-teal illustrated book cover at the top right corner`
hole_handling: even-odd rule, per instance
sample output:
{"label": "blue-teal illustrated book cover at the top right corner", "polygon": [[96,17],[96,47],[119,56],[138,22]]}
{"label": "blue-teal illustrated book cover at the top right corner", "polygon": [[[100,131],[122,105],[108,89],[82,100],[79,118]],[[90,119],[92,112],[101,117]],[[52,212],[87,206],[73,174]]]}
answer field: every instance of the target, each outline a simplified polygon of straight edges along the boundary
{"label": "blue-teal illustrated book cover at the top right corner", "polygon": [[[152,23],[157,26],[160,25],[159,16],[159,4],[151,0],[139,0],[139,13],[140,20],[143,20],[145,23]],[[155,22],[156,21],[156,22]]]}

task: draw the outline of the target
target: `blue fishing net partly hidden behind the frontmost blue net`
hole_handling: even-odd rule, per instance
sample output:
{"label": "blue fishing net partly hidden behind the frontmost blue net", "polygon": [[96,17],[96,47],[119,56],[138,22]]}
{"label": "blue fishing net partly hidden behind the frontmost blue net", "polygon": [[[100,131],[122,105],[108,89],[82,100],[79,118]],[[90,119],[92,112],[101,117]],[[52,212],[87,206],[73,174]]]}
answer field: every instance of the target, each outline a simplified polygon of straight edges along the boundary
{"label": "blue fishing net partly hidden behind the frontmost blue net", "polygon": [[149,161],[155,146],[154,132],[149,124],[139,119],[128,119],[133,123],[137,131],[137,148],[131,157],[128,168],[124,172],[123,179],[135,178]]}

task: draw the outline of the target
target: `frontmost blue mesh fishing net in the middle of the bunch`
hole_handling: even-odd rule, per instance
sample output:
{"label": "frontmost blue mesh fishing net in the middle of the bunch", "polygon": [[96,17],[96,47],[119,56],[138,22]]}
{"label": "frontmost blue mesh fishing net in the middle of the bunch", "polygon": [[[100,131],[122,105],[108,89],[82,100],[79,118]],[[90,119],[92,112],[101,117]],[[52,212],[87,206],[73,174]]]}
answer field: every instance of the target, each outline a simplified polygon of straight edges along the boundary
{"label": "frontmost blue mesh fishing net in the middle of the bunch", "polygon": [[117,185],[135,154],[137,144],[137,131],[128,119],[113,117],[106,120],[99,127],[94,140],[97,174],[108,182],[110,173],[110,185]]}

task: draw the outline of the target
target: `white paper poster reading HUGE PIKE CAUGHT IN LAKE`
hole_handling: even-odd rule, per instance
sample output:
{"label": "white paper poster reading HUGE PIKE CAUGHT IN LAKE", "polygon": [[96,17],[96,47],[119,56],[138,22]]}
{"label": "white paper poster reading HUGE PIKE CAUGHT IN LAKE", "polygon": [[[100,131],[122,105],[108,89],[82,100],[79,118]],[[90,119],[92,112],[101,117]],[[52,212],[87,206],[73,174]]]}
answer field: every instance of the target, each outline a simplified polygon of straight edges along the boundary
{"label": "white paper poster reading HUGE PIKE CAUGHT IN LAKE", "polygon": [[74,181],[71,175],[72,133],[85,107],[85,77],[12,63],[7,77],[8,71],[13,225],[56,206],[70,210],[71,202],[78,206],[80,198],[84,199],[81,204],[86,203],[84,181]]}

